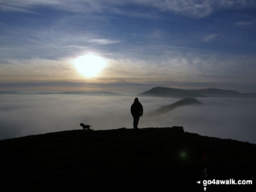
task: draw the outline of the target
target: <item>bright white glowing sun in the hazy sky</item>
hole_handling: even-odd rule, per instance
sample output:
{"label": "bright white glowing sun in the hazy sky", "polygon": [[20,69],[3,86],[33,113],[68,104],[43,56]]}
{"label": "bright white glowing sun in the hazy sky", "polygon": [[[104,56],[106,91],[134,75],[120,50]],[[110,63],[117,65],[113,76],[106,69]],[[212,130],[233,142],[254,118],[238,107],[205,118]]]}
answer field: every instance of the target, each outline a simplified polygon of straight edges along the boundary
{"label": "bright white glowing sun in the hazy sky", "polygon": [[106,67],[106,60],[95,54],[86,54],[73,60],[74,66],[79,73],[88,78],[97,75]]}

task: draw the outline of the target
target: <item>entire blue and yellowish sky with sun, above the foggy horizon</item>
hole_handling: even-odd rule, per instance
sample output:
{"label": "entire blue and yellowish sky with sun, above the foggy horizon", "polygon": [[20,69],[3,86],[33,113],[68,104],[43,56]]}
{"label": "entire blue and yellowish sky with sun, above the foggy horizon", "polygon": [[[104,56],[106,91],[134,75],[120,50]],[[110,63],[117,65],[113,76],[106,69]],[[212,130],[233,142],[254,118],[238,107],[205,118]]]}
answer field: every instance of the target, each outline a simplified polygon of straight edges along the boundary
{"label": "entire blue and yellowish sky with sun, above the foggy horizon", "polygon": [[0,91],[256,92],[255,74],[254,0],[0,1]]}

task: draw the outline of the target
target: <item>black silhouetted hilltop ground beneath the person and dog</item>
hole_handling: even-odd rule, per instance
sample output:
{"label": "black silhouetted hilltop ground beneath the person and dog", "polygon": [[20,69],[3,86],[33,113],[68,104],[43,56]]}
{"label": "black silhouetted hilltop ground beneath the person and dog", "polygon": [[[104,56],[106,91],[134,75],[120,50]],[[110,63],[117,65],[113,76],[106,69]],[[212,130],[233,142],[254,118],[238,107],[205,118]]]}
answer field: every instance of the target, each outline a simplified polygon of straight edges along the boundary
{"label": "black silhouetted hilltop ground beneath the person and dog", "polygon": [[[0,191],[256,191],[256,145],[181,127],[61,131],[0,141]],[[197,182],[201,180],[201,184]]]}

